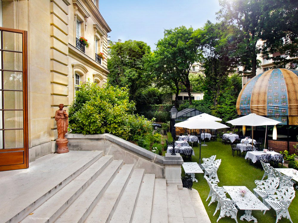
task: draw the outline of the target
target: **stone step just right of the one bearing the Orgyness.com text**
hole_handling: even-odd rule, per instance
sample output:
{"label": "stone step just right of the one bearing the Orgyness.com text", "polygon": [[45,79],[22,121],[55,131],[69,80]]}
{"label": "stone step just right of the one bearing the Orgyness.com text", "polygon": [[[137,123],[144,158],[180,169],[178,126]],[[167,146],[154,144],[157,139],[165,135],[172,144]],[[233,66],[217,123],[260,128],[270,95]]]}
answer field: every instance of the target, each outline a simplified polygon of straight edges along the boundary
{"label": "stone step just right of the one bearing the Orgyness.com text", "polygon": [[84,222],[122,165],[122,160],[112,161],[55,222]]}

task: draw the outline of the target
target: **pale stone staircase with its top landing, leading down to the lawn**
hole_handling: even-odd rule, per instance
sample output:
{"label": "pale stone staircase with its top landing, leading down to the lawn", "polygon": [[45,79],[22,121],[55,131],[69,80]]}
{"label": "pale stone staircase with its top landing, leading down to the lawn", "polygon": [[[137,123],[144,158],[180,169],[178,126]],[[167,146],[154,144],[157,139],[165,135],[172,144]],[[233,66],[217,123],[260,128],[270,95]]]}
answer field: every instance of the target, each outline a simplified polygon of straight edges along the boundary
{"label": "pale stone staircase with its top landing, leading down to the lawn", "polygon": [[196,190],[167,186],[102,151],[46,155],[0,172],[0,188],[0,222],[210,222]]}

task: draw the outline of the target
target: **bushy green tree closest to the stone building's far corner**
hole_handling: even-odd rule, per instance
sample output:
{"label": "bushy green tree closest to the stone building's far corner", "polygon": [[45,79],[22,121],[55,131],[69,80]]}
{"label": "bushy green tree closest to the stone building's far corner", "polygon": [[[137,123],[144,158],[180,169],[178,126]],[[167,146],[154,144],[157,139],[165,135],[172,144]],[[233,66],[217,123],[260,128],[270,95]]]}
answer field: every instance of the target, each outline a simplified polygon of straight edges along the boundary
{"label": "bushy green tree closest to the stone building's far corner", "polygon": [[108,81],[114,86],[127,86],[132,100],[139,89],[149,86],[152,82],[144,67],[148,54],[150,46],[142,41],[128,40],[111,47]]}

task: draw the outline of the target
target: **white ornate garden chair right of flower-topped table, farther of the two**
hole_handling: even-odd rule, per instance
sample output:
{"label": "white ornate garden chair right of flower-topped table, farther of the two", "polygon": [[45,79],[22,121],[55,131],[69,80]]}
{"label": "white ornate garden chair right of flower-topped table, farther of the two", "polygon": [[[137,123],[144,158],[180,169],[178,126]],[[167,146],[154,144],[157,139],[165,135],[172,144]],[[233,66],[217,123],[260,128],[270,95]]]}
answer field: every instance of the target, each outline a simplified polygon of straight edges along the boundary
{"label": "white ornate garden chair right of flower-topped table, farther of the two", "polygon": [[257,185],[257,187],[253,189],[254,195],[256,195],[256,197],[260,196],[264,203],[264,199],[268,197],[266,190],[277,189],[279,185],[279,179],[268,178],[267,180],[255,180],[254,183]]}

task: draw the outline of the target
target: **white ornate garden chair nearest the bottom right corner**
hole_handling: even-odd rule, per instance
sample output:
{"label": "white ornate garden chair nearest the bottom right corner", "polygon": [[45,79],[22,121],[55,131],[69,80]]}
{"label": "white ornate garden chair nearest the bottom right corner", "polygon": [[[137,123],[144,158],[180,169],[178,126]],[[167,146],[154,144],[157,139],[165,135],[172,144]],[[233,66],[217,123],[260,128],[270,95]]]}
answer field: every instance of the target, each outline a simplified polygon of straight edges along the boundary
{"label": "white ornate garden chair nearest the bottom right corner", "polygon": [[[295,191],[291,187],[283,187],[277,190],[267,189],[268,198],[265,199],[266,206],[276,211],[276,222],[282,217],[289,219],[290,217],[288,207],[295,197]],[[265,214],[266,211],[264,211]],[[292,222],[293,223],[293,222]]]}

